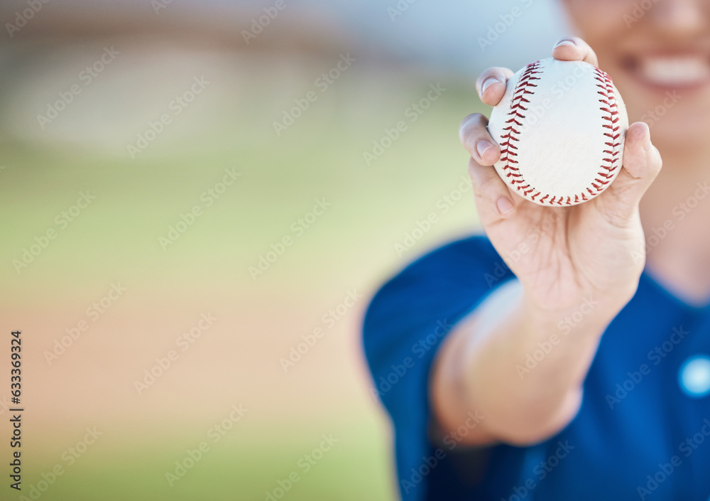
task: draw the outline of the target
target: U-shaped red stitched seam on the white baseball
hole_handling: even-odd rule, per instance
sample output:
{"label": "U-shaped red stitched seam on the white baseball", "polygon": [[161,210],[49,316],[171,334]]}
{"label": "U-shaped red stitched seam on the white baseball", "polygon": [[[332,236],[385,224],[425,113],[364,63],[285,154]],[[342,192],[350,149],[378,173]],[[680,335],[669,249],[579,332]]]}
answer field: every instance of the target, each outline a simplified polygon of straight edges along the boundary
{"label": "U-shaped red stitched seam on the white baseball", "polygon": [[[513,99],[510,101],[510,112],[508,112],[508,116],[511,118],[506,120],[506,124],[509,125],[503,129],[503,131],[507,131],[507,133],[501,136],[501,140],[504,140],[501,142],[501,162],[504,162],[503,171],[506,172],[506,177],[508,178],[510,185],[515,186],[518,191],[522,191],[523,195],[529,195],[531,200],[535,200],[537,196],[541,195],[540,191],[530,187],[530,183],[526,183],[523,175],[519,173],[520,169],[511,165],[518,163],[518,161],[511,158],[518,156],[518,153],[513,151],[518,149],[513,142],[520,141],[520,131],[515,129],[513,124],[520,127],[523,126],[522,122],[519,122],[517,119],[524,119],[525,115],[520,114],[518,110],[527,111],[527,108],[523,106],[523,103],[529,103],[530,99],[525,99],[525,96],[535,94],[535,91],[529,90],[528,87],[537,87],[537,85],[533,84],[531,80],[540,80],[540,77],[534,76],[540,74],[542,74],[542,71],[539,60],[535,61],[535,63],[530,63],[525,67],[523,74],[520,75],[520,80],[518,80],[518,85],[515,86],[515,90],[513,91]],[[591,187],[586,188],[586,192],[589,192],[591,197],[588,197],[587,194],[582,191],[581,193],[574,195],[575,204],[579,203],[580,199],[582,201],[586,201],[594,198],[596,195],[599,195],[599,193],[606,188],[606,185],[611,183],[613,171],[616,171],[616,168],[618,167],[618,165],[615,164],[618,161],[618,154],[620,152],[618,147],[621,146],[621,141],[619,141],[621,132],[619,131],[620,126],[618,125],[621,117],[619,117],[613,83],[611,82],[611,77],[599,68],[594,68],[594,80],[599,82],[596,84],[596,87],[599,87],[600,89],[597,91],[597,94],[601,96],[601,99],[599,99],[599,102],[601,103],[599,109],[603,112],[601,119],[608,122],[602,124],[604,129],[603,134],[608,138],[604,144],[605,146],[609,146],[610,149],[603,151],[603,153],[606,153],[608,157],[602,158],[603,163],[600,166],[601,171],[596,174],[597,177],[594,179],[594,183],[591,183]],[[592,188],[594,188],[594,190],[592,190]],[[535,194],[530,195],[533,191]],[[549,194],[545,194],[542,198],[540,198],[540,200],[537,201],[539,203],[549,205],[562,205],[563,203],[564,205],[572,205],[571,196],[557,197],[557,195],[555,195],[550,198]]]}

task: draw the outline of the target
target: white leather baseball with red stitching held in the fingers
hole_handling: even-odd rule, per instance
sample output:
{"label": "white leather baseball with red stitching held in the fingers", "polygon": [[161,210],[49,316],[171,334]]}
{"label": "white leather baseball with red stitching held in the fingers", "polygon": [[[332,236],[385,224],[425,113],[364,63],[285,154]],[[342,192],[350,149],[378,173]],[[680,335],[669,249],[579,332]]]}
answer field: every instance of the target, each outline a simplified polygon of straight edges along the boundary
{"label": "white leather baseball with red stitching held in the fingers", "polygon": [[510,77],[488,131],[501,146],[496,171],[540,205],[577,205],[621,170],[626,107],[609,76],[588,63],[552,58]]}

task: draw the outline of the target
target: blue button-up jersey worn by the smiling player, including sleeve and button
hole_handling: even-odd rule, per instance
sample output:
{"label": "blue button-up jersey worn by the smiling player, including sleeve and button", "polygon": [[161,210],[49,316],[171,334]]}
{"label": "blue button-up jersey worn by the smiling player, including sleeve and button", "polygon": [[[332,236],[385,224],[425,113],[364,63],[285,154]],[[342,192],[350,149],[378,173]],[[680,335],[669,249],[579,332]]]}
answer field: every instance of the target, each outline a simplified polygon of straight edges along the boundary
{"label": "blue button-up jersey worn by the smiling player, including sleeve and button", "polygon": [[[710,307],[689,306],[648,274],[603,334],[579,414],[556,436],[467,447],[462,437],[485,419],[471,412],[457,431],[429,438],[427,383],[439,344],[514,278],[488,239],[471,237],[410,264],[368,307],[372,393],[391,416],[403,500],[709,500]],[[579,315],[594,314],[587,306]],[[555,334],[580,320],[560,320]],[[515,370],[525,377],[538,355]]]}

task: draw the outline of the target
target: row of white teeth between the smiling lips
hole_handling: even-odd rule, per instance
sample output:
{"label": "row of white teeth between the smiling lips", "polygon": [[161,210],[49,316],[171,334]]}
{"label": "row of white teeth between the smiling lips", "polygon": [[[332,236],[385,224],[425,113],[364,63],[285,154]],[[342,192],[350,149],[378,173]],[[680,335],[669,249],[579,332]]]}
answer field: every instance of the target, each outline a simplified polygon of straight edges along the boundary
{"label": "row of white teeth between the smiling lips", "polygon": [[694,85],[710,78],[708,60],[698,56],[643,58],[640,70],[656,85]]}

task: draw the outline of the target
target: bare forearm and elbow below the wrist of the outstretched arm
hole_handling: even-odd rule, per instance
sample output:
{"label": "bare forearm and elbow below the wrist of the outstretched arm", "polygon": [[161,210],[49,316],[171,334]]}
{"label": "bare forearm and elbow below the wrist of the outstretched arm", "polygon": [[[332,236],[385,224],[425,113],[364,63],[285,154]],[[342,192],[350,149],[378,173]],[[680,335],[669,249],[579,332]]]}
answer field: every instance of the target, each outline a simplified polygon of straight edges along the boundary
{"label": "bare forearm and elbow below the wrist of the outstretched arm", "polygon": [[469,411],[484,416],[471,443],[535,443],[562,429],[606,325],[623,303],[586,298],[577,309],[540,311],[516,287],[496,291],[442,346],[432,404],[444,430]]}

